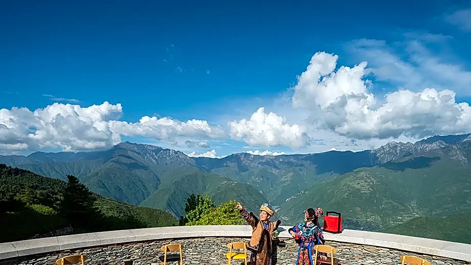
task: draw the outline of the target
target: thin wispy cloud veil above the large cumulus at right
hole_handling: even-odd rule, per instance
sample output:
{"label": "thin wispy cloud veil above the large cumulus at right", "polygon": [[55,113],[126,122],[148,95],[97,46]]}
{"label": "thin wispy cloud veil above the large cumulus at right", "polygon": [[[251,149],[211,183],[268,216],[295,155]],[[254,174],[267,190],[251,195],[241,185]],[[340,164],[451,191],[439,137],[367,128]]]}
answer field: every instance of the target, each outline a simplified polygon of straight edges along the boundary
{"label": "thin wispy cloud veil above the large cumulus at right", "polygon": [[[462,95],[471,95],[471,71],[458,63],[447,50],[449,36],[436,34],[404,34],[405,40],[387,43],[384,40],[359,39],[345,46],[352,56],[368,61],[366,73],[375,80],[386,81],[412,91],[424,87],[444,87]],[[429,48],[438,46],[442,53]]]}

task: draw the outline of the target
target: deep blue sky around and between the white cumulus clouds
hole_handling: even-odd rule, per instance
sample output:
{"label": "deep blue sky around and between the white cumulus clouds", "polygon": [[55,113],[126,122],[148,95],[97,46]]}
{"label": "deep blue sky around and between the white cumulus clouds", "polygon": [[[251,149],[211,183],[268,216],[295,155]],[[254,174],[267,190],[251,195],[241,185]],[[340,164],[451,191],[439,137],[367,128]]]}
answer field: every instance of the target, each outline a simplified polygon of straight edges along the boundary
{"label": "deep blue sky around and between the white cumulus clouds", "polygon": [[[311,139],[308,147],[279,144],[283,141],[250,144],[229,133],[217,137],[122,136],[121,140],[185,153],[215,149],[218,156],[257,148],[285,152],[369,148],[395,138],[379,137],[379,141],[378,134],[371,134],[365,139],[342,131],[341,126],[334,126],[323,138],[319,135],[324,134],[315,133],[319,127],[304,124],[303,115],[280,101],[289,102],[284,99],[294,92],[288,89],[296,85],[297,76],[306,71],[316,52],[338,55],[337,67],[368,61],[376,69],[368,79],[378,101],[399,87],[414,92],[425,87],[450,89],[456,92],[456,102],[469,101],[471,52],[466,43],[471,40],[471,18],[463,12],[471,6],[465,4],[4,1],[0,4],[4,39],[0,42],[0,108],[26,107],[34,112],[54,102],[88,107],[108,101],[122,105],[119,121],[138,122],[147,115],[183,122],[204,120],[210,126],[226,127],[228,121],[250,119],[259,107],[265,107],[265,112],[284,117],[290,125],[306,127]],[[367,48],[358,42],[362,39],[368,41]],[[398,64],[381,57],[385,51],[413,68],[401,67],[395,73],[390,65]],[[436,62],[436,67],[429,69],[429,62]],[[313,116],[310,107],[299,112]],[[23,122],[25,127],[30,126],[28,122]],[[329,131],[327,127],[322,130]],[[435,133],[434,128],[417,128]],[[447,131],[437,133],[443,132]],[[457,132],[461,131],[450,131]],[[402,131],[400,136],[397,139],[418,137],[416,131]],[[209,142],[210,147],[182,144],[188,139]],[[364,143],[357,147],[338,144],[352,139]],[[10,146],[4,151],[60,150],[67,145],[14,140],[2,142],[0,137],[0,144]],[[22,148],[12,148],[20,143]],[[81,149],[77,146],[72,144],[71,149]],[[93,149],[88,146],[85,149]]]}

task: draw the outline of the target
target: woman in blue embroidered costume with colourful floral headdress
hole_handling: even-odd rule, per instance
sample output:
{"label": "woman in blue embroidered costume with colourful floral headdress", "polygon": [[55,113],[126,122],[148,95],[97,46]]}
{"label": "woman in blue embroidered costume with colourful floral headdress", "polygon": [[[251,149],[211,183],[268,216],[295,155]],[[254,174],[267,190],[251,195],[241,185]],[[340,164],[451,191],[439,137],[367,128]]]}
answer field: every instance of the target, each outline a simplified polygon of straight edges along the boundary
{"label": "woman in blue embroidered costume with colourful floral headdress", "polygon": [[[313,248],[315,245],[324,245],[325,242],[317,219],[323,213],[322,208],[309,208],[304,211],[304,222],[288,229],[288,232],[299,244],[296,265],[314,265],[315,251]],[[326,253],[318,252],[318,255],[319,259],[327,259]]]}

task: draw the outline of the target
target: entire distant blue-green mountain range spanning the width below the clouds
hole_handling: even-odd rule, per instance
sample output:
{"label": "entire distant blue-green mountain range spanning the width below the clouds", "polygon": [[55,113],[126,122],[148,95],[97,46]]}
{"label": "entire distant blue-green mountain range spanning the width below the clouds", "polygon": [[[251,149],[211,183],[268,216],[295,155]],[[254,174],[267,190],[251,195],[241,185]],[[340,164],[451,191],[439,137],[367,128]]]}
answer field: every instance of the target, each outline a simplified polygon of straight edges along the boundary
{"label": "entire distant blue-green mountain range spanning the width below the clouds", "polygon": [[186,197],[238,200],[249,210],[270,203],[285,225],[309,207],[341,212],[345,226],[378,230],[419,216],[471,209],[471,134],[390,142],[374,150],[192,158],[152,145],[120,143],[91,152],[0,156],[0,163],[64,180],[77,176],[91,191],[179,217]]}

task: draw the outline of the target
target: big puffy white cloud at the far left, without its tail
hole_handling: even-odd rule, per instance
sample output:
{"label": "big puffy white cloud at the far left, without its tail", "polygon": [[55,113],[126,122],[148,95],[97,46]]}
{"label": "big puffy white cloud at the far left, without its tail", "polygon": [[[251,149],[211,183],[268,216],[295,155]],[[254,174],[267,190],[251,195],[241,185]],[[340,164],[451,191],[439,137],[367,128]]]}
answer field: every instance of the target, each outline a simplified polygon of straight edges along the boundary
{"label": "big puffy white cloud at the far left, without its tail", "polygon": [[0,148],[9,150],[94,149],[120,141],[108,121],[121,116],[120,104],[54,103],[34,112],[28,108],[0,109]]}

